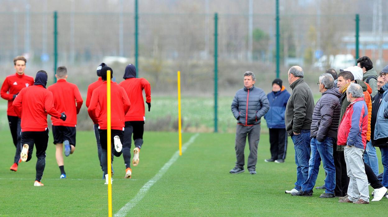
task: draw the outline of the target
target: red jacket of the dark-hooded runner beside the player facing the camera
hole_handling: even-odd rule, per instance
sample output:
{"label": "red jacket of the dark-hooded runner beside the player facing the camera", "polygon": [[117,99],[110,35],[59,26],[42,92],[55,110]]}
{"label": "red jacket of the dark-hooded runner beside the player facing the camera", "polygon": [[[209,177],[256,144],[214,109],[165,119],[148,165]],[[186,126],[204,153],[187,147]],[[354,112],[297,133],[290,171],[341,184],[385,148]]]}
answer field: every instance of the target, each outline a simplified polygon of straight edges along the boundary
{"label": "red jacket of the dark-hooded runner beside the player facing the camera", "polygon": [[45,131],[47,113],[56,118],[61,117],[61,114],[54,108],[52,92],[42,85],[23,88],[12,105],[17,116],[21,118],[22,132]]}

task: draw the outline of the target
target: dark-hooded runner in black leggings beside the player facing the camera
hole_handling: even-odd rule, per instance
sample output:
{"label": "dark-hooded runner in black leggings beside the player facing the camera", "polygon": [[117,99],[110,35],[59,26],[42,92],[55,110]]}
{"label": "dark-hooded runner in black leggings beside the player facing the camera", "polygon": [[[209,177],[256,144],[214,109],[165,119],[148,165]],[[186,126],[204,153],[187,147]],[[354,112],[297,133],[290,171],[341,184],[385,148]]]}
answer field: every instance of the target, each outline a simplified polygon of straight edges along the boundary
{"label": "dark-hooded runner in black leggings beside the player facing the camera", "polygon": [[43,170],[46,164],[46,149],[49,141],[49,128],[47,128],[47,113],[55,118],[66,120],[65,113],[59,113],[54,108],[52,92],[46,89],[47,73],[38,71],[34,85],[23,88],[13,102],[14,110],[21,118],[21,144],[20,153],[22,161],[29,161],[32,157],[34,143],[36,148],[36,178],[34,186],[43,186]]}

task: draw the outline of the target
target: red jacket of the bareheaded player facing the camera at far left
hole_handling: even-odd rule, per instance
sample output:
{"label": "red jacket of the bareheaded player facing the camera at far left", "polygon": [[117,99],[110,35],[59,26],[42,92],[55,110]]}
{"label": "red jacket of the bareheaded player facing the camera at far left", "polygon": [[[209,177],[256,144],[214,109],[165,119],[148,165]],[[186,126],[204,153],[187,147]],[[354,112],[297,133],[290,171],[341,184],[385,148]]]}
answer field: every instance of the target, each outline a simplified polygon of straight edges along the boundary
{"label": "red jacket of the bareheaded player facing the camera at far left", "polygon": [[14,101],[12,97],[14,94],[19,93],[24,87],[28,87],[33,84],[34,78],[26,74],[18,75],[15,73],[5,78],[3,86],[1,87],[1,97],[8,100],[7,115],[17,116],[14,111],[14,107],[12,106],[12,102]]}

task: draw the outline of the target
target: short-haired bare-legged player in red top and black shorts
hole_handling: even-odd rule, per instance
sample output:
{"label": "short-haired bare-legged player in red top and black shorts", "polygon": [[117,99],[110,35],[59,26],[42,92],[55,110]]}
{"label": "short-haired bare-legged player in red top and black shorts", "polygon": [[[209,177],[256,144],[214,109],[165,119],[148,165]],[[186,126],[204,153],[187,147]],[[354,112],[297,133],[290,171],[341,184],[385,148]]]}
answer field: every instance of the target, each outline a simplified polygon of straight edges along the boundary
{"label": "short-haired bare-legged player in red top and black shorts", "polygon": [[82,106],[82,97],[78,87],[66,81],[68,78],[68,71],[65,66],[59,66],[55,77],[58,79],[47,90],[50,90],[54,97],[54,108],[57,111],[65,111],[69,118],[65,122],[51,117],[52,135],[54,137],[55,158],[57,159],[61,176],[59,178],[66,178],[66,172],[63,165],[63,144],[65,145],[65,156],[73,154],[75,150],[75,135],[77,125],[77,114],[80,112]]}

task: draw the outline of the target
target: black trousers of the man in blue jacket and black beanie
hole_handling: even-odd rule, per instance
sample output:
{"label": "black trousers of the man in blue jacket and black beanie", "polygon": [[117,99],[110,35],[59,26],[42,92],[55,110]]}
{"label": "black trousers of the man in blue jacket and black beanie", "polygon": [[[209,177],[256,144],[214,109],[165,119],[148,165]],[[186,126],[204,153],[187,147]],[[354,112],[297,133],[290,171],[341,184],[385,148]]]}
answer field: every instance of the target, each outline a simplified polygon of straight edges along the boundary
{"label": "black trousers of the man in blue jacket and black beanie", "polygon": [[287,140],[286,129],[269,129],[270,151],[273,160],[286,159]]}

